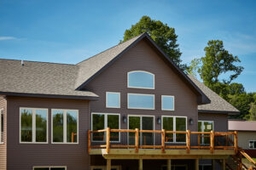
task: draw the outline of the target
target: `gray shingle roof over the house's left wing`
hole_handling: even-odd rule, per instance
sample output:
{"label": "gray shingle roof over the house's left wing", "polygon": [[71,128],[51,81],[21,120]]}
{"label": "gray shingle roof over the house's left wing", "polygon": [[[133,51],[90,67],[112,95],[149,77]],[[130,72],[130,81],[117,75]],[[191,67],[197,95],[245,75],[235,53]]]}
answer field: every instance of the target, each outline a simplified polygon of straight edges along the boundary
{"label": "gray shingle roof over the house's left wing", "polygon": [[77,65],[0,59],[0,92],[15,94],[61,95],[62,98],[95,98],[88,91],[76,91]]}

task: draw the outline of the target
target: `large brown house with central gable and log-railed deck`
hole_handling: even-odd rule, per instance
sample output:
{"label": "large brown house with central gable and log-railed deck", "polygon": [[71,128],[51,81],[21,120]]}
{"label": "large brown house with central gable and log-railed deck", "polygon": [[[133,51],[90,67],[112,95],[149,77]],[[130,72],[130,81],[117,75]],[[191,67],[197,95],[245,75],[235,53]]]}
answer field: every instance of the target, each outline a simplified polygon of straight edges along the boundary
{"label": "large brown house with central gable and log-railed deck", "polygon": [[147,33],[77,65],[0,59],[0,95],[4,170],[224,169],[238,153],[236,108]]}

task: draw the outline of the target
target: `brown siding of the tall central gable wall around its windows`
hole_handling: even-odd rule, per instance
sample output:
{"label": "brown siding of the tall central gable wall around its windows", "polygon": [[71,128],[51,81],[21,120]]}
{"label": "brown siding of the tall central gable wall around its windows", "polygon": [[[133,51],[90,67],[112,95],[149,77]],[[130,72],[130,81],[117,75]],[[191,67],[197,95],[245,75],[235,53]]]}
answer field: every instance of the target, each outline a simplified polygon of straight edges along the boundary
{"label": "brown siding of the tall central gable wall around its windows", "polygon": [[[149,71],[154,74],[155,89],[127,88],[128,71]],[[113,65],[103,71],[85,87],[100,96],[100,99],[91,102],[92,112],[120,113],[124,115],[153,115],[155,120],[159,116],[188,116],[197,122],[196,95],[192,90],[166,65],[163,59],[148,46],[147,42],[141,41],[131,48]],[[106,92],[120,92],[121,108],[106,108]],[[155,110],[127,109],[127,93],[154,94]],[[175,96],[175,111],[161,111],[161,95]],[[156,122],[156,121],[155,121]],[[127,123],[121,121],[121,128],[127,128]],[[155,123],[155,129],[160,129]],[[188,129],[197,130],[197,123],[188,125]]]}

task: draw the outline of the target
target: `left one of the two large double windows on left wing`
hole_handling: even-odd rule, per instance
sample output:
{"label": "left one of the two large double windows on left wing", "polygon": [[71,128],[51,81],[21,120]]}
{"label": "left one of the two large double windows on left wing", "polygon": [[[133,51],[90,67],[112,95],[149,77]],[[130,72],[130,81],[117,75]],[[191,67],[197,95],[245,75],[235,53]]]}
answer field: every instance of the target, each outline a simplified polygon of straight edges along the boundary
{"label": "left one of the two large double windows on left wing", "polygon": [[20,108],[20,143],[48,143],[48,110]]}

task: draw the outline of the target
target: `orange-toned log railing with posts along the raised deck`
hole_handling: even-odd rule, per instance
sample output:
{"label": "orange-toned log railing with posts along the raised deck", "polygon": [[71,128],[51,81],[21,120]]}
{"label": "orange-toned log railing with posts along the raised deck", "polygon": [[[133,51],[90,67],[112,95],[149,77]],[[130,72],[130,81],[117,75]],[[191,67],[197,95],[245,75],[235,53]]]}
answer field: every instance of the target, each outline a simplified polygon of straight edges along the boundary
{"label": "orange-toned log railing with posts along the raised deck", "polygon": [[[106,137],[106,141],[102,140],[104,144],[98,144],[98,145],[91,145],[91,134],[92,133],[104,133],[102,137]],[[118,144],[111,144],[110,139],[110,133],[134,133],[134,144],[125,144],[125,145],[118,145]],[[139,144],[139,136],[140,133],[160,133],[161,135],[161,141],[160,145],[140,145]],[[168,134],[185,134],[186,135],[186,140],[184,142],[185,145],[166,145],[166,142],[168,139],[170,139],[170,136],[167,137],[166,135]],[[192,134],[197,134],[198,136],[198,145],[191,145],[191,135]],[[228,135],[233,135],[234,136],[234,143],[233,146],[228,146],[228,145],[215,145],[215,138],[218,138],[219,136],[228,136]],[[174,135],[172,135],[174,136]],[[209,140],[209,145],[201,145],[201,138],[210,138]],[[227,137],[229,138],[229,137]],[[172,138],[171,138],[172,139]],[[230,140],[230,139],[229,139]],[[161,149],[162,152],[164,153],[166,149],[186,149],[187,152],[189,153],[190,149],[209,149],[212,153],[214,150],[235,150],[237,153],[238,146],[237,146],[237,132],[229,132],[229,133],[224,133],[224,132],[190,132],[189,130],[187,131],[166,131],[165,129],[162,130],[139,130],[138,128],[136,129],[110,129],[107,127],[106,129],[102,130],[88,130],[88,152],[90,153],[91,148],[106,148],[106,152],[109,153],[109,150],[111,147],[119,147],[119,148],[135,148],[136,152],[138,152],[139,148],[158,148]]]}

